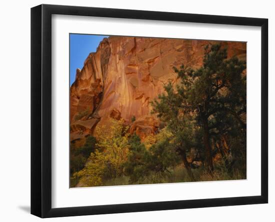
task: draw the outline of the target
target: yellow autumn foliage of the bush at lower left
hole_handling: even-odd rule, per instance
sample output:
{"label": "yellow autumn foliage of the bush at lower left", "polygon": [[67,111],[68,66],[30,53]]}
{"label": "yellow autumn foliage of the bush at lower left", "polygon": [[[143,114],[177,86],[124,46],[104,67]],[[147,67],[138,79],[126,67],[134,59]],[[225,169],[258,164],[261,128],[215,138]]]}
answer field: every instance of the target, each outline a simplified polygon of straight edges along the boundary
{"label": "yellow autumn foliage of the bush at lower left", "polygon": [[105,180],[122,175],[122,164],[127,159],[128,127],[122,120],[110,120],[109,125],[98,127],[97,147],[90,154],[85,167],[74,174],[79,183],[86,186],[100,186]]}

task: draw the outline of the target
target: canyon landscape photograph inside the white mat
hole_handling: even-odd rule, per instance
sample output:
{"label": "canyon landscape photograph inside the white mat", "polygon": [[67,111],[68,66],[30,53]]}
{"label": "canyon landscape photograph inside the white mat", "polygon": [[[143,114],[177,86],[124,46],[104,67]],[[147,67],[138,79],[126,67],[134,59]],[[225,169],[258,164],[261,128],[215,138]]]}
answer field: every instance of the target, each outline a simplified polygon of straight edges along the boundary
{"label": "canyon landscape photograph inside the white mat", "polygon": [[246,179],[246,42],[70,33],[68,47],[71,188]]}

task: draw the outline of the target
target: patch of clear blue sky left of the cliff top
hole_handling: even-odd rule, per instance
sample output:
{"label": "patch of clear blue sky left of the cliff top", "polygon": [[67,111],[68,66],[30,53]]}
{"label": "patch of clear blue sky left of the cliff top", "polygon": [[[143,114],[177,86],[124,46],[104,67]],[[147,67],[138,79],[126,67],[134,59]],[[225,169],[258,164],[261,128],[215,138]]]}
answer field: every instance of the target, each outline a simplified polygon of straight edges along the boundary
{"label": "patch of clear blue sky left of the cliff top", "polygon": [[75,71],[82,69],[89,53],[96,52],[102,39],[108,36],[69,34],[69,85],[75,80]]}

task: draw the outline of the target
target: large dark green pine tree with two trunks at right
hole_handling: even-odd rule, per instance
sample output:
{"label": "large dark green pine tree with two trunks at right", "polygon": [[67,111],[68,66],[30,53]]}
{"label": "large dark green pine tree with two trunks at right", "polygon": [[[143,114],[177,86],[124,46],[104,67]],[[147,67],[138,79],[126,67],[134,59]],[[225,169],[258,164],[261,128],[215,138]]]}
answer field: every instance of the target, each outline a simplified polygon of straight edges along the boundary
{"label": "large dark green pine tree with two trunks at right", "polygon": [[[227,58],[218,45],[205,47],[203,65],[193,70],[174,68],[181,84],[164,86],[165,93],[154,100],[153,113],[174,134],[177,148],[188,170],[186,152],[202,144],[207,169],[213,172],[211,138],[240,130],[246,135],[246,75],[244,61]],[[245,140],[245,138],[242,138]],[[190,176],[191,172],[189,169]]]}

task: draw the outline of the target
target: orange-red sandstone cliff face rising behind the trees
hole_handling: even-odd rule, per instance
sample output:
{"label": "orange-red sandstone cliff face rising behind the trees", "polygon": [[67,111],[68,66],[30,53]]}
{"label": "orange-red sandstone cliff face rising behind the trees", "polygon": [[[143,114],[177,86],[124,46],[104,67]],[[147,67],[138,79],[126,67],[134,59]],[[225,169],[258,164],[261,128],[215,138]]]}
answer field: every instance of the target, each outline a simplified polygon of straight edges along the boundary
{"label": "orange-red sandstone cliff face rising behind the trees", "polygon": [[[204,46],[214,41],[161,38],[109,37],[90,53],[76,70],[70,88],[71,140],[92,134],[99,121],[122,118],[130,132],[144,138],[159,123],[150,114],[150,101],[163,92],[163,85],[177,83],[173,67],[198,68]],[[228,57],[246,59],[246,44],[222,42]],[[131,118],[136,120],[131,123]],[[79,117],[81,117],[79,119]]]}

